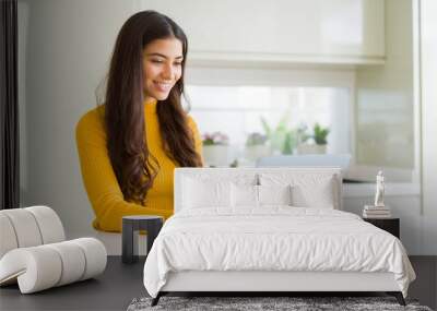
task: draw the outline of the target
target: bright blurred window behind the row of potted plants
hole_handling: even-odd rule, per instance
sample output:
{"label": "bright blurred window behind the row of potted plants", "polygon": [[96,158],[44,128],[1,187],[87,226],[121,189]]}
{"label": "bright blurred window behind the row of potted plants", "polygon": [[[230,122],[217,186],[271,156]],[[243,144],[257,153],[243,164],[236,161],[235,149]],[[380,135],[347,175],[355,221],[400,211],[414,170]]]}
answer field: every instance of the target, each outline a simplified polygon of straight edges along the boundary
{"label": "bright blurred window behind the row of potted plants", "polygon": [[317,123],[329,130],[322,153],[351,153],[347,87],[188,85],[187,94],[200,132],[228,137],[226,160],[206,154],[210,165],[252,165],[258,156],[318,153],[312,147]]}

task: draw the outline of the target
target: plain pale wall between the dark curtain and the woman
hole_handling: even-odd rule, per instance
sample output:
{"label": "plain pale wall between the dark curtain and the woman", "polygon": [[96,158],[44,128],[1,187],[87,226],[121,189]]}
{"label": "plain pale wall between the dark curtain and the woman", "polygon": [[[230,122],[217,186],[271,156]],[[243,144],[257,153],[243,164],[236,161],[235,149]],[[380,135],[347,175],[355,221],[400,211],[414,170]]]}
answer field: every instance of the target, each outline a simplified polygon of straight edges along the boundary
{"label": "plain pale wall between the dark curtain and the woman", "polygon": [[[74,128],[96,106],[116,35],[131,15],[129,1],[20,0],[25,44],[23,205],[55,208],[70,236],[92,232],[94,217],[80,174]],[[25,29],[24,27],[27,28]],[[22,46],[20,48],[23,48]]]}

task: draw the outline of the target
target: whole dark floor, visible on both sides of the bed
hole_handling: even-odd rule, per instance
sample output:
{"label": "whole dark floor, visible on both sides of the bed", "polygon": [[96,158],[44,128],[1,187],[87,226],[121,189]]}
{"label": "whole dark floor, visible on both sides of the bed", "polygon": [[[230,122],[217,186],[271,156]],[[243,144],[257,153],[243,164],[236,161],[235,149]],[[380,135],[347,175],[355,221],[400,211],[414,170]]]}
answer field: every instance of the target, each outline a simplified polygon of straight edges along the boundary
{"label": "whole dark floor, visible on both sides of the bed", "polygon": [[[409,297],[436,309],[437,256],[410,258],[417,279]],[[0,310],[126,310],[135,297],[146,296],[142,283],[143,261],[125,265],[120,258],[108,258],[105,273],[63,287],[21,295],[17,286],[0,288]]]}

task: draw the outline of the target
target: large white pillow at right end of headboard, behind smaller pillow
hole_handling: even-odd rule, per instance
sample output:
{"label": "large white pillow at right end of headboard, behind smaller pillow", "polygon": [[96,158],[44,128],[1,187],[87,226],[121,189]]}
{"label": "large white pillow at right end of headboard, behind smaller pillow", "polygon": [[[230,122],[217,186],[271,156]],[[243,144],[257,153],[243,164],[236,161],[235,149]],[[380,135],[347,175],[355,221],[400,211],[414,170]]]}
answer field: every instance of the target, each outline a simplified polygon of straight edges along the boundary
{"label": "large white pillow at right end of headboard, behind smaller pillow", "polygon": [[292,186],[293,206],[335,208],[335,179],[332,175],[317,172],[260,174],[262,186]]}

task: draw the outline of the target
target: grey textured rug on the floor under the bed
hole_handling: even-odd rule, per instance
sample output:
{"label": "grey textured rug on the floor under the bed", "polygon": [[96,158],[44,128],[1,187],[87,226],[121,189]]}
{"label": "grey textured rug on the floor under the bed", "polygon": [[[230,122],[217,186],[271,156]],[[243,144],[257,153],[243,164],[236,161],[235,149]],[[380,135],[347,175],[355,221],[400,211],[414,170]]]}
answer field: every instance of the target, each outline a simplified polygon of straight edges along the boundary
{"label": "grey textured rug on the floor under the bed", "polygon": [[417,300],[406,299],[406,307],[393,297],[162,297],[155,307],[152,298],[133,299],[128,311],[146,310],[421,310],[432,311],[420,306]]}

